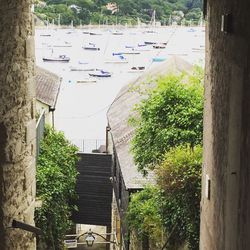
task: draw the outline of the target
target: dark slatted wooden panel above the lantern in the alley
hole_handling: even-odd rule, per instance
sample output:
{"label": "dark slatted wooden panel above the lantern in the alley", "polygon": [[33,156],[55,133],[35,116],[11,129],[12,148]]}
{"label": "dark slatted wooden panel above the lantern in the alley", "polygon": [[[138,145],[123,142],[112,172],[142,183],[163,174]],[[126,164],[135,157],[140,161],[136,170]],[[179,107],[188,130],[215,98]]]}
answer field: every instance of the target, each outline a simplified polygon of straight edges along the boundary
{"label": "dark slatted wooden panel above the lantern in the alley", "polygon": [[73,221],[78,224],[111,225],[112,156],[79,153],[77,179],[78,212]]}

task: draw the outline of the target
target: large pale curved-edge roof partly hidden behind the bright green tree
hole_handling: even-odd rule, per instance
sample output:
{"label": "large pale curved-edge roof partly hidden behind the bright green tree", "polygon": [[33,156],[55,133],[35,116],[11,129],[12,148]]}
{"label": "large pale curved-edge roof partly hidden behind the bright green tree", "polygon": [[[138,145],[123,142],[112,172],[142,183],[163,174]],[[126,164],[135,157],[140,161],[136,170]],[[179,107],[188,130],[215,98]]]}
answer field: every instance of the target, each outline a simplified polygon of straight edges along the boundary
{"label": "large pale curved-edge roof partly hidden behind the bright green tree", "polygon": [[[130,153],[130,140],[134,134],[134,129],[128,125],[128,119],[132,113],[132,108],[143,96],[138,92],[131,91],[140,83],[153,82],[155,77],[168,73],[181,73],[191,71],[192,65],[178,57],[172,57],[158,68],[145,72],[134,82],[124,86],[107,112],[107,119],[111,128],[113,143],[116,149],[122,176],[127,189],[141,189],[147,182],[153,181],[153,173],[147,178],[137,171],[137,167]],[[146,84],[147,88],[152,88],[153,84]]]}

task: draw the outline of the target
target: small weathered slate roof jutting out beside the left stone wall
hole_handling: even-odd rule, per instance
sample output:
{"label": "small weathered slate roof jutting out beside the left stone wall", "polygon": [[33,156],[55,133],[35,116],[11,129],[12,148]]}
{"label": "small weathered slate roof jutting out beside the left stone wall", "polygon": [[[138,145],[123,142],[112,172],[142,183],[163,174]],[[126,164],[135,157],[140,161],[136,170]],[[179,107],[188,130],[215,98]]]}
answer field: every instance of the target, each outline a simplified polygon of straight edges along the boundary
{"label": "small weathered slate roof jutting out beside the left stone wall", "polygon": [[48,70],[35,69],[36,99],[55,108],[60,90],[61,78]]}

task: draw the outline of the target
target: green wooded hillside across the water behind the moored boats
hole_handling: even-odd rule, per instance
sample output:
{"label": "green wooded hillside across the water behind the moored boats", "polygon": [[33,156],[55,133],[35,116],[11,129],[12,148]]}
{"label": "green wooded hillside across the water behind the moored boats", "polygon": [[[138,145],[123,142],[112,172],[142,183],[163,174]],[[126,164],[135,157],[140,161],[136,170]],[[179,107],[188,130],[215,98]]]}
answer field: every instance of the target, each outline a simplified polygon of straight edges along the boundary
{"label": "green wooded hillside across the water behind the moored boats", "polygon": [[[107,9],[108,3],[115,3],[117,11]],[[44,20],[57,24],[136,24],[138,18],[143,23],[149,23],[155,10],[156,21],[169,24],[198,24],[201,17],[202,0],[45,0],[36,1],[35,13]]]}

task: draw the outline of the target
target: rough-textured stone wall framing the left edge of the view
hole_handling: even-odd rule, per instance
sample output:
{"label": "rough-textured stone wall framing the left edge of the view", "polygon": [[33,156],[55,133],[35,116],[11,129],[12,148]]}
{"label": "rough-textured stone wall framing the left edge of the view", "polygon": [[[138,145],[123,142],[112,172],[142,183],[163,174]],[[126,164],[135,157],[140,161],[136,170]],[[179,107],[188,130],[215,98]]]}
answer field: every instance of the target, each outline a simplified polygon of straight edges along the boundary
{"label": "rough-textured stone wall framing the left edge of the view", "polygon": [[35,249],[35,88],[31,0],[0,3],[0,249]]}

